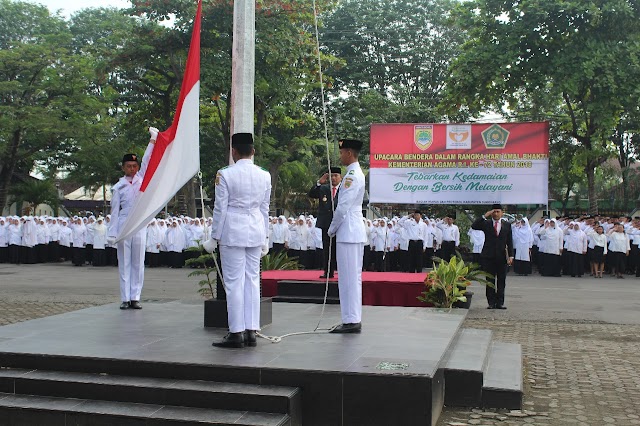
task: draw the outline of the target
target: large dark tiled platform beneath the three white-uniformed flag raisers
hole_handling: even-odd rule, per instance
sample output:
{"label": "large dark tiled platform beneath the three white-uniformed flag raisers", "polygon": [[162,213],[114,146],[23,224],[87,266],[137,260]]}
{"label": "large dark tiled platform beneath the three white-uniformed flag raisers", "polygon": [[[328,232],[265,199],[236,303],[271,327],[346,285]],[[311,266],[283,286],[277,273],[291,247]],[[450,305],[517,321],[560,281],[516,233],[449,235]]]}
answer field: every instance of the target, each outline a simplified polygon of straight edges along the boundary
{"label": "large dark tiled platform beneath the three white-uniformed flag raisers", "polygon": [[[263,333],[313,330],[321,309],[274,303]],[[466,313],[365,306],[361,334],[244,349],[211,346],[226,331],[202,327],[201,303],[109,304],[12,324],[0,327],[0,424],[433,425],[447,364],[462,371],[477,356],[454,357]],[[327,306],[321,328],[339,318]],[[503,381],[507,355],[494,363]],[[514,395],[521,401],[521,388]]]}

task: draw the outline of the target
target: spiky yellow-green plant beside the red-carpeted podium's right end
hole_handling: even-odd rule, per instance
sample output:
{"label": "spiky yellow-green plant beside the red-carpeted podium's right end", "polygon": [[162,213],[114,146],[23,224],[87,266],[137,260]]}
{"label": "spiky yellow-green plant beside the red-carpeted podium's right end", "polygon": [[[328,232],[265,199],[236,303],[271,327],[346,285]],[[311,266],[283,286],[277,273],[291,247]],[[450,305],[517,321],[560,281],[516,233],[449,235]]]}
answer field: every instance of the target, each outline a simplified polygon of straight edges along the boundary
{"label": "spiky yellow-green plant beside the red-carpeted podium's right end", "polygon": [[[477,263],[465,263],[460,257],[452,257],[450,261],[434,258],[433,270],[427,274],[426,286],[418,300],[436,308],[467,307],[470,296],[467,291],[471,281],[494,288],[489,279],[493,275],[480,270]],[[465,306],[466,305],[466,306]]]}

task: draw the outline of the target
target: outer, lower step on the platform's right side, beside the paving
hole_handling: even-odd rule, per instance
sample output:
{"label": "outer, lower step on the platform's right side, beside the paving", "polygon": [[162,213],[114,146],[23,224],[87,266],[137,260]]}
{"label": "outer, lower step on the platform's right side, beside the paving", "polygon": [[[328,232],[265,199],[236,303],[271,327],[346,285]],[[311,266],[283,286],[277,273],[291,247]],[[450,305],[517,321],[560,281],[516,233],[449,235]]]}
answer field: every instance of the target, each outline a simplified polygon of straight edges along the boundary
{"label": "outer, lower step on the platform's right side, beside the paving", "polygon": [[493,342],[484,370],[482,406],[522,409],[522,347],[516,343]]}

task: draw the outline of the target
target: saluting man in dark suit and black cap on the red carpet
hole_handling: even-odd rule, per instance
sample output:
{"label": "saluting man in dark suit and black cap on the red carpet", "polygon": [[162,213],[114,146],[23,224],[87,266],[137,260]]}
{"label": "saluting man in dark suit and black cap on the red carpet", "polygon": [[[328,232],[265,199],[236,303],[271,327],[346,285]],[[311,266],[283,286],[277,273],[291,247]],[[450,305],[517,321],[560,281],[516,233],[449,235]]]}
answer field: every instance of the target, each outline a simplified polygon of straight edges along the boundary
{"label": "saluting man in dark suit and black cap on the red carpet", "polygon": [[[331,167],[331,174],[325,173],[316,182],[316,185],[309,190],[309,197],[318,199],[318,217],[316,219],[316,228],[322,230],[322,254],[324,263],[322,269],[324,273],[320,278],[333,278],[333,272],[336,270],[336,240],[333,239],[331,244],[331,265],[327,270],[329,263],[329,235],[327,230],[333,219],[333,209],[338,205],[338,189],[342,181],[342,170],[340,167]],[[331,181],[331,184],[329,184]],[[331,200],[333,199],[333,205]]]}

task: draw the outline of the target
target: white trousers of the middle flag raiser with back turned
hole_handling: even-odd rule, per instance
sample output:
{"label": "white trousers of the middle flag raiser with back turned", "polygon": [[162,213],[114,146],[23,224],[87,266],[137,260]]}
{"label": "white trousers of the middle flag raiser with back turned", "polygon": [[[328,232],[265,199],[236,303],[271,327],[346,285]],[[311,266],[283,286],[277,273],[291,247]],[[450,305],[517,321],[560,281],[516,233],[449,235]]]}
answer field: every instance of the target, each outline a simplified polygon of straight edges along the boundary
{"label": "white trousers of the middle flag raiser with back turned", "polygon": [[231,333],[260,330],[261,252],[262,247],[220,246]]}

